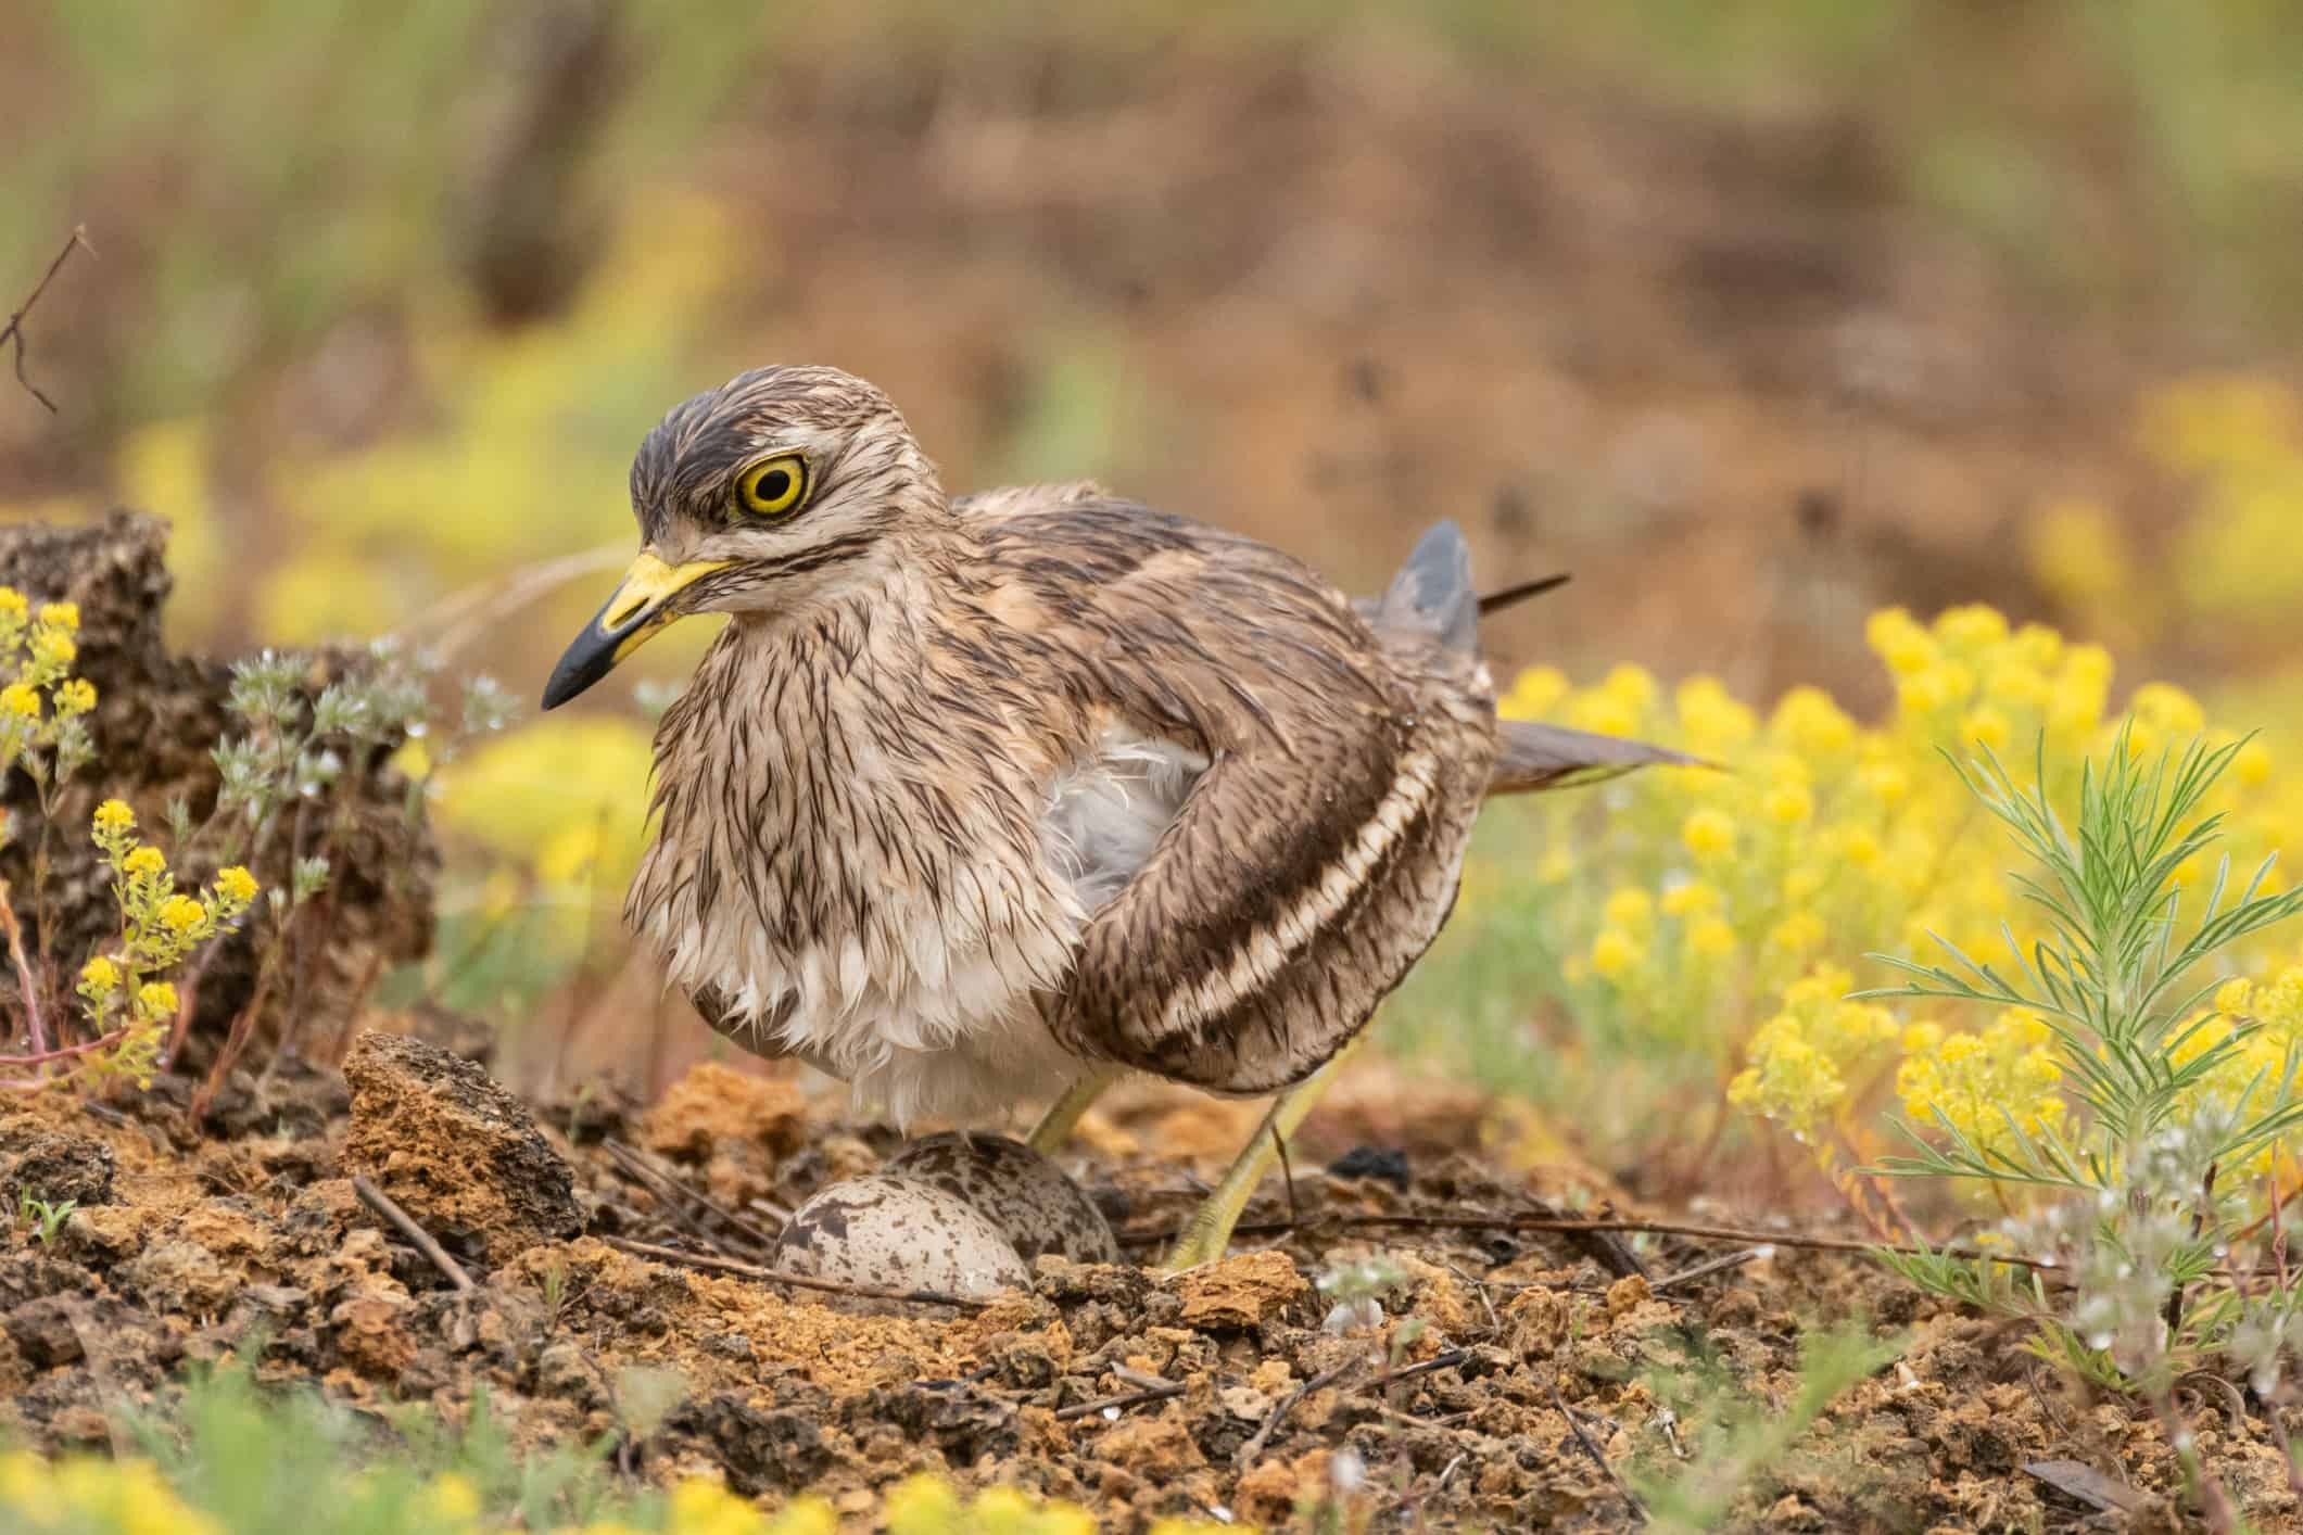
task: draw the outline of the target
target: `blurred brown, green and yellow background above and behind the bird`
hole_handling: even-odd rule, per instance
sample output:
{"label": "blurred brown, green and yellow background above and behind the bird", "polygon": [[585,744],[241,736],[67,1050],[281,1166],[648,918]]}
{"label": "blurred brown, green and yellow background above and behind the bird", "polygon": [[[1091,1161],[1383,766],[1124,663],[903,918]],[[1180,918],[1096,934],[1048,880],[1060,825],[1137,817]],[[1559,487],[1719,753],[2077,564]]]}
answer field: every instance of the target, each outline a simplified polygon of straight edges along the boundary
{"label": "blurred brown, green and yellow background above and behind the bird", "polygon": [[[1865,612],[1987,601],[2264,716],[2296,145],[2278,0],[16,0],[0,299],[97,258],[0,518],[168,518],[184,647],[398,633],[532,700],[654,419],[829,361],[953,488],[1096,476],[1359,589],[1442,516],[1573,571],[1506,667],[1861,713]],[[707,640],[454,766],[428,987],[613,946]]]}

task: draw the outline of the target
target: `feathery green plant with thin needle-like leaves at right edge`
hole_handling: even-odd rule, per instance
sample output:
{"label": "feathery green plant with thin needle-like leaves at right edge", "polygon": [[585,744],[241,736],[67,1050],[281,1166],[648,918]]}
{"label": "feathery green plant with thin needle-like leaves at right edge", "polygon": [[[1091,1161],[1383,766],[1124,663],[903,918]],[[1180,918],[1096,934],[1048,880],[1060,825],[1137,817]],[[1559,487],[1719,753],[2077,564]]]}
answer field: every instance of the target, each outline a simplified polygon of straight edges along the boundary
{"label": "feathery green plant with thin needle-like leaves at right edge", "polygon": [[[2043,1358],[2153,1395],[2215,1355],[2239,1358],[2268,1390],[2282,1349],[2303,1339],[2303,1277],[2287,1275],[2266,1176],[2303,1125],[2296,1038],[2220,1006],[2227,978],[2215,973],[2225,946],[2303,909],[2303,888],[2271,891],[2266,858],[2234,895],[2227,854],[2204,900],[2183,888],[2220,831],[2222,817],[2199,808],[2241,746],[2192,741],[2144,759],[2121,732],[2107,762],[2082,766],[2075,824],[2050,794],[2045,750],[2029,785],[1987,748],[1953,762],[2036,865],[2013,879],[2050,934],[2024,950],[2004,925],[2008,967],[1944,939],[1951,967],[1872,955],[1909,980],[1865,992],[2031,1013],[2052,1036],[2063,1093],[2084,1109],[2059,1123],[2001,1105],[2006,1135],[1987,1139],[1941,1112],[1932,1137],[1898,1121],[1916,1153],[1877,1171],[1981,1183],[2004,1204],[2013,1187],[2034,1190],[2031,1211],[1999,1234],[2031,1263],[1946,1252],[1882,1261],[1935,1293],[2031,1316]],[[2266,1227],[2273,1240],[2243,1280],[2234,1250]]]}

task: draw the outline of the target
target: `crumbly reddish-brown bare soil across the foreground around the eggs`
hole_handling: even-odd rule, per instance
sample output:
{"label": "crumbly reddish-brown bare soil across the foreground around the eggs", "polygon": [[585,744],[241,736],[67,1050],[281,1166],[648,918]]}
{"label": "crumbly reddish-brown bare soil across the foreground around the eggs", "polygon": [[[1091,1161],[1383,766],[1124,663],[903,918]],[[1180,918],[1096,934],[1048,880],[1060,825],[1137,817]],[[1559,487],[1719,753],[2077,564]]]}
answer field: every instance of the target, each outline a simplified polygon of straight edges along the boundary
{"label": "crumbly reddish-brown bare soil across the foreground around the eggs", "polygon": [[[23,1224],[0,1240],[9,1431],[104,1445],[122,1404],[166,1404],[187,1365],[237,1351],[265,1381],[368,1408],[458,1418],[484,1388],[523,1443],[569,1443],[622,1431],[626,1372],[649,1369],[677,1376],[679,1404],[624,1452],[631,1475],[723,1475],[769,1503],[815,1489],[859,1530],[875,1494],[914,1471],[1078,1498],[1117,1530],[1214,1510],[1285,1528],[1333,1494],[1345,1452],[1363,1466],[1350,1503],[1366,1528],[1603,1530],[1633,1519],[1624,1480],[1686,1471],[1702,1443],[1688,1381],[1780,1411],[1801,1332],[1861,1314],[1907,1339],[1900,1360],[1755,1475],[1739,1528],[2192,1521],[2144,1408],[2082,1395],[2017,1332],[1861,1259],[1778,1250],[1674,1282],[1723,1250],[1375,1224],[1548,1213],[1564,1187],[1594,1187],[1582,1167],[1495,1167],[1465,1144],[1476,1116],[1460,1093],[1393,1079],[1338,1093],[1297,1148],[1299,1224],[1251,1229],[1227,1261],[1163,1277],[1145,1263],[1246,1112],[1126,1091],[1066,1162],[1131,1261],[1041,1257],[1027,1291],[981,1307],[859,1314],[615,1245],[753,1257],[778,1211],[896,1148],[797,1082],[702,1066],[645,1114],[530,1114],[477,1063],[380,1033],[348,1072],[286,1063],[260,1095],[240,1079],[216,1109],[228,1137],[191,1135],[187,1084],[166,1079],[117,1105],[51,1095],[0,1116],[9,1204],[18,1190],[78,1201],[53,1240]],[[1386,1144],[1340,1162],[1366,1176],[1317,1164],[1377,1116]],[[355,1176],[470,1289],[364,1204]],[[1278,1181],[1248,1220],[1290,1220]],[[1407,1286],[1377,1326],[1324,1330],[1317,1275],[1373,1250]],[[2211,1388],[2179,1404],[2257,1526],[2296,1528],[2264,1408],[2234,1418]]]}

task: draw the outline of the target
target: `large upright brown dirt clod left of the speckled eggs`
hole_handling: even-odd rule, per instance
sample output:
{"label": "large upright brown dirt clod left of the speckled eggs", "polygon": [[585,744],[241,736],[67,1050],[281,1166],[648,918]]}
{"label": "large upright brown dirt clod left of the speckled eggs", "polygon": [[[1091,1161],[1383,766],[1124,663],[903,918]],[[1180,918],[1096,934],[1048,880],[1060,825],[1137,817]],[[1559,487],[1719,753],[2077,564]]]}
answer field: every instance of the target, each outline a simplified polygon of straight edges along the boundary
{"label": "large upright brown dirt clod left of the speckled eggs", "polygon": [[364,1033],[343,1077],[345,1169],[375,1178],[444,1245],[504,1263],[583,1229],[569,1164],[481,1068],[417,1038]]}

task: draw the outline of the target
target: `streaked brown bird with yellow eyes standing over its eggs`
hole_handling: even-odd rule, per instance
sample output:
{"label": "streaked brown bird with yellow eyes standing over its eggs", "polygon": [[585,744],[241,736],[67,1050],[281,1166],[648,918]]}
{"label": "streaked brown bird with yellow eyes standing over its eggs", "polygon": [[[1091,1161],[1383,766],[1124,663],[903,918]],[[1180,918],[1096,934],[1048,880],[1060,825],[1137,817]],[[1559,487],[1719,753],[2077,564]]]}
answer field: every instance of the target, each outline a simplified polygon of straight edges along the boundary
{"label": "streaked brown bird with yellow eyes standing over its eggs", "polygon": [[557,709],[728,614],[654,736],[624,921],[705,1022],[898,1128],[1115,1079],[1274,1098],[1170,1268],[1221,1257],[1269,1158],[1449,918],[1481,805],[1677,753],[1499,720],[1437,522],[1377,596],[1094,481],[949,495],[875,384],[767,366],[631,465],[640,550]]}

